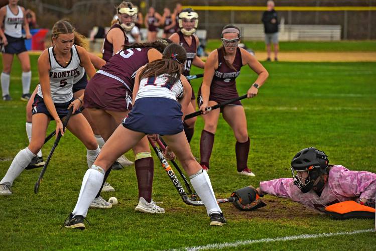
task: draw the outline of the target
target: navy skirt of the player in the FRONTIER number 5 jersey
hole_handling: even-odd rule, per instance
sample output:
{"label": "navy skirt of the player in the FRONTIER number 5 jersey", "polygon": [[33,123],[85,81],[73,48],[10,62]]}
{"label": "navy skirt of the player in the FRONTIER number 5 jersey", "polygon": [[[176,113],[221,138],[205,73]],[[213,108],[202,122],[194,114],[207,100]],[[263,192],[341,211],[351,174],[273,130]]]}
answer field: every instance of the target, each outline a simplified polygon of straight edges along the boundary
{"label": "navy skirt of the player in the FRONTIER number 5 jersey", "polygon": [[[57,112],[57,114],[59,115],[60,118],[63,118],[68,114],[68,111],[69,111],[68,106],[70,105],[70,103],[73,100],[74,100],[74,98],[72,98],[70,101],[65,102],[65,103],[54,103],[56,112]],[[35,94],[35,98],[34,98],[34,102],[33,102],[33,108],[32,108],[31,111],[32,111],[33,115],[37,114],[37,113],[44,113],[47,116],[49,116],[51,120],[55,120],[55,118],[53,118],[51,116],[51,113],[48,111],[47,106],[44,103],[43,98],[41,96],[39,96],[38,94]],[[80,112],[81,112],[80,109],[77,109],[74,112],[74,114],[78,114]]]}

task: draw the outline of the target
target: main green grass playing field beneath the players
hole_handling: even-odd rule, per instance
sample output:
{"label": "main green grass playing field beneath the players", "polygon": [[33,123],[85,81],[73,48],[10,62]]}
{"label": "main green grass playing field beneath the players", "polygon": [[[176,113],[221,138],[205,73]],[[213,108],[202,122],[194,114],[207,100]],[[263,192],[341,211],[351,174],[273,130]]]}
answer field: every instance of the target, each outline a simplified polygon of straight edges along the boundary
{"label": "main green grass playing field beneath the players", "polygon": [[[374,43],[373,43],[374,45]],[[36,56],[31,57],[32,86],[38,82]],[[332,164],[352,170],[376,172],[376,63],[263,63],[270,73],[254,99],[243,100],[251,140],[248,165],[255,178],[236,173],[235,139],[220,118],[211,158],[211,178],[217,197],[263,180],[290,177],[290,161],[299,150],[315,146],[330,156]],[[200,70],[194,69],[198,73]],[[21,96],[21,70],[15,60],[13,101],[0,101],[0,178],[17,152],[25,148],[25,102]],[[256,74],[243,67],[238,91],[245,93]],[[200,80],[193,81],[197,91]],[[55,123],[50,124],[49,132]],[[199,156],[203,128],[198,118],[191,143]],[[45,158],[52,147],[43,148]],[[15,249],[170,249],[224,242],[255,240],[226,249],[326,249],[374,250],[375,232],[333,235],[298,240],[261,240],[300,234],[337,233],[371,229],[374,220],[332,220],[286,199],[265,196],[267,207],[254,212],[221,208],[228,223],[210,227],[204,207],[185,205],[155,158],[153,199],[164,215],[134,211],[137,181],[134,167],[113,171],[108,179],[116,189],[103,193],[119,204],[108,210],[90,209],[84,231],[60,229],[76,203],[87,169],[86,150],[70,133],[61,140],[44,176],[39,193],[33,192],[40,169],[25,171],[13,185],[14,194],[0,197],[0,246]],[[132,158],[132,154],[127,156]],[[181,180],[181,179],[180,179]],[[373,247],[372,247],[373,246]],[[212,249],[218,247],[212,246]]]}

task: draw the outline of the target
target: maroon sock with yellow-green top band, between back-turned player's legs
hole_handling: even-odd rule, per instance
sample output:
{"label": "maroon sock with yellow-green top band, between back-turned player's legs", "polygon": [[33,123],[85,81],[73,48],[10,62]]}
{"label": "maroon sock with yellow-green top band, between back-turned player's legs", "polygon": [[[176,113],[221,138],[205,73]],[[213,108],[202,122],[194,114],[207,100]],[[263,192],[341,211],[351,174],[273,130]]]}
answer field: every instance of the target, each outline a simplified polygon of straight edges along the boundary
{"label": "maroon sock with yellow-green top band, between back-turned player's legs", "polygon": [[139,198],[143,197],[148,203],[152,200],[154,161],[152,157],[135,161]]}

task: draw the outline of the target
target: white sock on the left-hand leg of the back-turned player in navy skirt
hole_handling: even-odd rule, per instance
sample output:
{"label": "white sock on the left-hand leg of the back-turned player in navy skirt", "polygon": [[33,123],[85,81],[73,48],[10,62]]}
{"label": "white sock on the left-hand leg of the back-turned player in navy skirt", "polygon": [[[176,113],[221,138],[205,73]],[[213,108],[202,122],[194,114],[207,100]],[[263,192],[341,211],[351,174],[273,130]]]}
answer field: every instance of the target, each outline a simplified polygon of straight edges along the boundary
{"label": "white sock on the left-hand leg of the back-turned player in navy skirt", "polygon": [[95,195],[98,193],[104,179],[104,170],[98,166],[91,166],[83,176],[80,195],[77,204],[73,209],[73,216],[82,215],[86,217],[87,210]]}

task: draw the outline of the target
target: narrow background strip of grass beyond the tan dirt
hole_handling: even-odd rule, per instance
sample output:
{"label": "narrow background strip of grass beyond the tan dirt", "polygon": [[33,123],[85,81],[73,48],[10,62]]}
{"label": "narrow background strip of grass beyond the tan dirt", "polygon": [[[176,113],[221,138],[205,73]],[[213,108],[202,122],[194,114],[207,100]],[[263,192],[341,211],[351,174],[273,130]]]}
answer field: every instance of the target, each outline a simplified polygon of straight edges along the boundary
{"label": "narrow background strip of grass beyond the tan dirt", "polygon": [[[265,51],[263,41],[243,41],[249,49]],[[221,45],[219,39],[209,39],[206,50],[212,51]],[[376,51],[376,41],[338,41],[338,42],[310,42],[294,41],[280,42],[281,51],[315,51],[315,52],[353,52],[353,51]]]}

